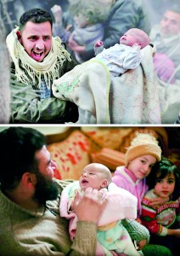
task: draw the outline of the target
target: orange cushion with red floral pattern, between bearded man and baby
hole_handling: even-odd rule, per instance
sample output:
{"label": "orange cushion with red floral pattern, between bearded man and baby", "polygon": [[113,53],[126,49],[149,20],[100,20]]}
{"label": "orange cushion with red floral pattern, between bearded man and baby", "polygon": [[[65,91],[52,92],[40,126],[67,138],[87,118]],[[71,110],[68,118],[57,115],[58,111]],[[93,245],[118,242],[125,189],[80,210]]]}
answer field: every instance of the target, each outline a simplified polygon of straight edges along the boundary
{"label": "orange cushion with red floral pattern, between bearded man and baby", "polygon": [[56,178],[77,180],[84,166],[90,163],[90,143],[81,131],[73,131],[63,142],[52,143],[47,148],[58,166],[54,172]]}

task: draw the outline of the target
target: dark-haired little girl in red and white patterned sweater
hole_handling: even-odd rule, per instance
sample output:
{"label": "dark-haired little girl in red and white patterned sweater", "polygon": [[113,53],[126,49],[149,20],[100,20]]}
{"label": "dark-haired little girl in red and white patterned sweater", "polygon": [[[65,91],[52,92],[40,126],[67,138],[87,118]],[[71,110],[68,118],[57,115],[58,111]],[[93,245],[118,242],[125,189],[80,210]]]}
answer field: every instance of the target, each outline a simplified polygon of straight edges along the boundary
{"label": "dark-haired little girl in red and white patterned sweater", "polygon": [[[141,219],[151,233],[150,241],[169,247],[173,255],[179,255],[179,184],[180,172],[177,166],[163,157],[149,176],[149,186],[153,189],[144,195],[142,201]],[[149,206],[149,200],[158,196],[171,196],[171,200],[154,209]]]}

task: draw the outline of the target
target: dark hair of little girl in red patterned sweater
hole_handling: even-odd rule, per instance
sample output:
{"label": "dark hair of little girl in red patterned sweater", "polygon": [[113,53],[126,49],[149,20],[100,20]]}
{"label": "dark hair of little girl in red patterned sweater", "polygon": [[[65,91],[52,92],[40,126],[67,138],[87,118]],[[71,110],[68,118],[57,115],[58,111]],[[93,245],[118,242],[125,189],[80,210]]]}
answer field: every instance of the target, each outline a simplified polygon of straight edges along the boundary
{"label": "dark hair of little girl in red patterned sweater", "polygon": [[180,172],[171,160],[162,156],[161,160],[153,166],[149,176],[147,177],[147,184],[149,185],[149,189],[153,189],[155,188],[157,179],[163,179],[170,174],[174,174],[175,177],[175,188],[172,197],[173,199],[177,199],[179,197]]}

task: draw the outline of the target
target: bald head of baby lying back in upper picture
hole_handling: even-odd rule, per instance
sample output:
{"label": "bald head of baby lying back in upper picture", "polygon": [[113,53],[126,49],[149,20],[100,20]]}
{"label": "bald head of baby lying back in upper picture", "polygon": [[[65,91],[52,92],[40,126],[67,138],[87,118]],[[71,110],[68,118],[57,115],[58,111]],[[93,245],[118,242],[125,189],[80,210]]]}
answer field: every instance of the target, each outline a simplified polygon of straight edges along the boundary
{"label": "bald head of baby lying back in upper picture", "polygon": [[132,46],[133,44],[138,44],[141,49],[149,45],[149,36],[143,32],[143,30],[138,28],[129,29],[121,38],[120,44],[125,44]]}

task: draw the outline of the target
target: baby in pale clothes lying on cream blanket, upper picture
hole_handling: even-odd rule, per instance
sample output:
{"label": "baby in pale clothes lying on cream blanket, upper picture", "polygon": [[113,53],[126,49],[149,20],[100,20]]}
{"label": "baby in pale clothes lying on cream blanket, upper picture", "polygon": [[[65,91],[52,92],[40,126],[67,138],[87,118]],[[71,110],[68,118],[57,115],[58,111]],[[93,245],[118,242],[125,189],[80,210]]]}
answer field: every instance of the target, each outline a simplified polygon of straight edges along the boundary
{"label": "baby in pale clothes lying on cream blanket, upper picture", "polygon": [[104,49],[103,42],[94,44],[96,59],[102,61],[112,76],[119,76],[128,69],[138,67],[141,62],[140,49],[149,45],[148,35],[138,28],[129,29],[121,38],[120,44]]}

